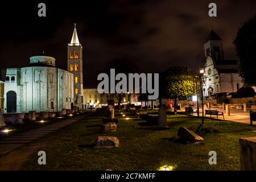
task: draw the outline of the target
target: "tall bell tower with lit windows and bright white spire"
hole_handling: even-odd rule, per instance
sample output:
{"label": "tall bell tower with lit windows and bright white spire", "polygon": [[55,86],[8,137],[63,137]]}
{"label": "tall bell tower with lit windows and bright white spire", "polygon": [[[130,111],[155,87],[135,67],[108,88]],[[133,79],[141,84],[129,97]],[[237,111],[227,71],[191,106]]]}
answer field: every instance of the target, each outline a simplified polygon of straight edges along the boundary
{"label": "tall bell tower with lit windows and bright white spire", "polygon": [[74,101],[73,106],[85,109],[82,81],[82,45],[76,32],[76,24],[71,43],[68,44],[68,72],[74,75]]}

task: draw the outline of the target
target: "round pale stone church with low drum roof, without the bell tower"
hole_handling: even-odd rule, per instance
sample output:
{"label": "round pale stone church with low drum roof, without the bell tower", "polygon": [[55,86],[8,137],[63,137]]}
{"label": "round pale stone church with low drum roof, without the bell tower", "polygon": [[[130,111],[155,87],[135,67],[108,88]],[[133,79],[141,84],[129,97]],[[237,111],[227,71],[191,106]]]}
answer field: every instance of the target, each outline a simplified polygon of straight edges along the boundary
{"label": "round pale stone church with low drum roof, without the bell tower", "polygon": [[55,67],[44,53],[30,57],[30,65],[8,68],[5,78],[5,113],[30,110],[61,111],[74,102],[73,74]]}

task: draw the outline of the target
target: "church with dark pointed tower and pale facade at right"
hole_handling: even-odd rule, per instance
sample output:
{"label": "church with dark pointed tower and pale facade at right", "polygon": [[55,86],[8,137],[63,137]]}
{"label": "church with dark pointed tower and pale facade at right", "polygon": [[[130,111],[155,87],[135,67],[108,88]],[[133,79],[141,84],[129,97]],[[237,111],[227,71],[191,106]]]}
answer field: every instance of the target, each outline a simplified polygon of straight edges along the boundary
{"label": "church with dark pointed tower and pale facade at right", "polygon": [[225,60],[222,39],[210,31],[204,44],[205,50],[205,85],[204,96],[214,93],[237,92],[243,86],[238,73],[237,60]]}

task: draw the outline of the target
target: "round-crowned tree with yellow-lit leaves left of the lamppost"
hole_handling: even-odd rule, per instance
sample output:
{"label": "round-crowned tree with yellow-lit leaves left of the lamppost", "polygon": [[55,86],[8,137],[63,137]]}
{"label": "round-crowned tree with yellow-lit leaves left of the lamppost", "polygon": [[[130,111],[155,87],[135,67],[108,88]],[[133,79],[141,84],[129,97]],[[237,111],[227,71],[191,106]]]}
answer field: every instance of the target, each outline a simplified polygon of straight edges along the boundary
{"label": "round-crowned tree with yellow-lit leaves left of the lamppost", "polygon": [[[162,98],[174,98],[174,107],[177,98],[190,97],[196,93],[196,77],[188,67],[171,67],[163,73]],[[164,94],[164,95],[163,95]]]}

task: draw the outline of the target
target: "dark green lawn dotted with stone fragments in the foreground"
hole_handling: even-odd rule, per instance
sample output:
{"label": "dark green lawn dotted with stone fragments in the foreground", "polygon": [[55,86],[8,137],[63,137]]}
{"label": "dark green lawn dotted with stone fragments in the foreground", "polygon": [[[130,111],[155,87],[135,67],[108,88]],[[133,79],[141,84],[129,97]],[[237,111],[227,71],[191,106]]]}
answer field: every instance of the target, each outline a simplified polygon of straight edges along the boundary
{"label": "dark green lawn dotted with stone fragments in the foreground", "polygon": [[[115,112],[116,115],[118,112]],[[128,113],[126,113],[128,114]],[[139,118],[118,118],[115,133],[100,133],[101,118],[105,113],[81,119],[43,139],[47,147],[47,165],[38,165],[37,152],[30,156],[22,169],[27,170],[156,170],[161,166],[175,170],[239,170],[238,139],[255,137],[256,128],[241,123],[206,119],[201,133],[204,142],[181,144],[174,142],[179,127],[195,131],[200,119],[186,115],[168,115],[170,130],[155,130],[154,126],[139,126]],[[95,148],[96,138],[102,135],[119,139],[119,147]],[[84,144],[84,147],[78,147]],[[209,151],[217,152],[217,165],[209,165]]]}

